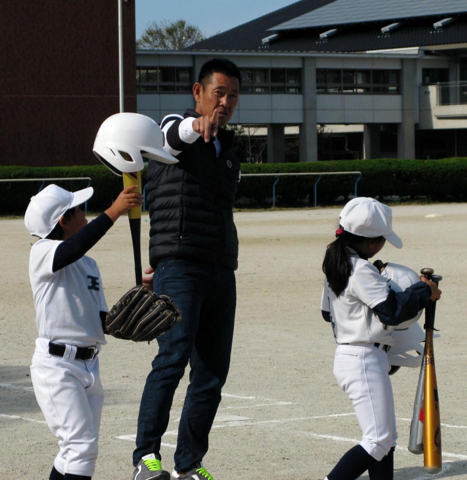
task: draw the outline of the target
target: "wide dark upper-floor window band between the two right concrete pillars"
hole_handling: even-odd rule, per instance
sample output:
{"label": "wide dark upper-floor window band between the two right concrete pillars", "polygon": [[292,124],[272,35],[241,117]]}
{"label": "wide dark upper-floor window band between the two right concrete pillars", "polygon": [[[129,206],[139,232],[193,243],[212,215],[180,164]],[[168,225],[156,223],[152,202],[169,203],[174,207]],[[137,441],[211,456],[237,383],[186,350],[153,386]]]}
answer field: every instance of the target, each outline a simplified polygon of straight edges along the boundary
{"label": "wide dark upper-floor window band between the two right concrete pillars", "polygon": [[316,68],[316,93],[399,93],[400,70]]}

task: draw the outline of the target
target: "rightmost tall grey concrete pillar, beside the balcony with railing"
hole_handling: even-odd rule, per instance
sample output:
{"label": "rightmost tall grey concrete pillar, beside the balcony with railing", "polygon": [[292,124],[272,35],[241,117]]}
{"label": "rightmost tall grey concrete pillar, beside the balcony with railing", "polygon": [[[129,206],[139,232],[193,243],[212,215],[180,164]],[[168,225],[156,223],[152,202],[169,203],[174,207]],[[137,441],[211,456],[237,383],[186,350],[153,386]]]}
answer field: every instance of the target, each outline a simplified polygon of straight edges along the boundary
{"label": "rightmost tall grey concrete pillar, beside the balcony with railing", "polygon": [[415,77],[415,60],[404,58],[400,87],[402,92],[402,121],[397,124],[397,158],[415,158],[415,109],[418,94]]}

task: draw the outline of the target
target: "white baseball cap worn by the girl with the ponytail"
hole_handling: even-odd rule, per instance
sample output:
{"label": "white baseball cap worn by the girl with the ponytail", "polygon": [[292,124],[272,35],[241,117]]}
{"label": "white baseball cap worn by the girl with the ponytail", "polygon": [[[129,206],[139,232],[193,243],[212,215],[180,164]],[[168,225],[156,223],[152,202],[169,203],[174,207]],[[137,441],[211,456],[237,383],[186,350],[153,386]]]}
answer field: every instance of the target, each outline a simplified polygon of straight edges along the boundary
{"label": "white baseball cap worn by the girl with the ponytail", "polygon": [[349,233],[368,238],[383,236],[397,248],[402,248],[402,240],[392,230],[391,208],[374,198],[352,198],[342,208],[339,219],[342,228]]}

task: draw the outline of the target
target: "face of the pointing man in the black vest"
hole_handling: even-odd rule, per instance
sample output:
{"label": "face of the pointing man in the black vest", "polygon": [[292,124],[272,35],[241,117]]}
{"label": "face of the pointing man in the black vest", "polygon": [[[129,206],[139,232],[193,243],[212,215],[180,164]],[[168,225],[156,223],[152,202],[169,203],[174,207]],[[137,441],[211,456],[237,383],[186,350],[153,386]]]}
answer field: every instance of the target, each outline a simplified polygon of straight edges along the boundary
{"label": "face of the pointing man in the black vest", "polygon": [[232,117],[238,102],[240,85],[238,78],[214,72],[203,87],[196,82],[193,95],[200,115],[212,115],[215,108],[219,111],[219,126],[223,126]]}

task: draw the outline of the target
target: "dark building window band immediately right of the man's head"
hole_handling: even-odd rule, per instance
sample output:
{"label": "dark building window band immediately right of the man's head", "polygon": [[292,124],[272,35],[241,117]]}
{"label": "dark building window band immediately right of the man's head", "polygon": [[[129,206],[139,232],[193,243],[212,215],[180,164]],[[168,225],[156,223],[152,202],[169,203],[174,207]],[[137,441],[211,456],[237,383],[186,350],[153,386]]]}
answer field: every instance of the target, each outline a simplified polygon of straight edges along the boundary
{"label": "dark building window band immediately right of the man's head", "polygon": [[300,93],[299,68],[240,68],[242,93]]}

